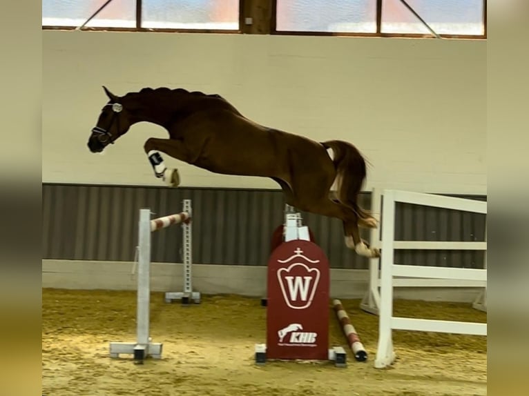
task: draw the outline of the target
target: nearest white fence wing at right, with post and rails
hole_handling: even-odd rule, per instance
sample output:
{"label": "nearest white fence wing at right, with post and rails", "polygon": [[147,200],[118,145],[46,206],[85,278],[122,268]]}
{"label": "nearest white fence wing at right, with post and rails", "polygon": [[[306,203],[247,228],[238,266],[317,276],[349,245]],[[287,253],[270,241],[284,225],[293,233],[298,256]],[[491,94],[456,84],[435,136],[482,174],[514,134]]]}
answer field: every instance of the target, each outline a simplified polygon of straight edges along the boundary
{"label": "nearest white fence wing at right, with post and rails", "polygon": [[[392,330],[413,330],[429,331],[436,333],[456,333],[487,335],[486,323],[471,323],[462,321],[443,321],[432,319],[412,319],[405,317],[393,316],[393,288],[394,277],[407,277],[419,279],[439,279],[445,282],[481,282],[486,286],[487,270],[471,268],[443,268],[430,266],[405,266],[394,263],[394,250],[398,248],[398,241],[395,241],[395,207],[396,202],[416,204],[422,206],[433,206],[436,208],[450,208],[454,210],[463,210],[465,212],[487,213],[487,203],[483,201],[474,201],[471,199],[461,199],[453,197],[443,197],[439,195],[420,194],[416,192],[405,192],[398,190],[384,190],[384,205],[382,210],[382,239],[381,239],[381,278],[372,279],[374,284],[380,284],[380,295],[372,295],[378,306],[379,314],[379,333],[378,349],[374,366],[383,368],[394,362],[395,354],[392,342]],[[447,246],[446,242],[435,242],[441,244],[443,248]],[[459,246],[462,242],[454,242],[454,246]],[[407,242],[405,246],[415,246],[420,248],[423,241]],[[434,244],[434,242],[428,242]],[[450,242],[452,244],[452,242]],[[474,247],[477,246],[474,244]],[[407,247],[408,248],[408,247]],[[486,242],[481,243],[479,248],[486,250]],[[419,280],[417,279],[417,280]],[[409,279],[408,279],[409,280]],[[424,284],[418,283],[420,286]],[[378,291],[378,290],[377,290]]]}

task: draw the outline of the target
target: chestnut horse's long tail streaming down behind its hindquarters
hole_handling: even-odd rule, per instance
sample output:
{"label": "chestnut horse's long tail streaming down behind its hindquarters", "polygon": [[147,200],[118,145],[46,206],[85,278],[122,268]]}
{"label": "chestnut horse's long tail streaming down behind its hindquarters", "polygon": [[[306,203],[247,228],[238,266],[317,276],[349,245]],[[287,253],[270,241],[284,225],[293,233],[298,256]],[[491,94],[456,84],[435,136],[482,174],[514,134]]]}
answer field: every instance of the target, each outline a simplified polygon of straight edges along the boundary
{"label": "chestnut horse's long tail streaming down behind its hindquarters", "polygon": [[364,226],[376,226],[374,217],[358,206],[358,194],[367,175],[365,159],[358,149],[347,141],[329,140],[322,144],[334,152],[333,162],[336,168],[338,201],[354,210],[358,221]]}

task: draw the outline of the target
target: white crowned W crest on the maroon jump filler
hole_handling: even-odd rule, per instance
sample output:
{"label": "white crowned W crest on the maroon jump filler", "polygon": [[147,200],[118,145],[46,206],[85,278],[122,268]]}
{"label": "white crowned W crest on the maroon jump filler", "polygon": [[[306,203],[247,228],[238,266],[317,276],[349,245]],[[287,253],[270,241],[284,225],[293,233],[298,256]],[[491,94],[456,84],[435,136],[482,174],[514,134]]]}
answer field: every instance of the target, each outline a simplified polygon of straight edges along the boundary
{"label": "white crowned W crest on the maroon jump filler", "polygon": [[302,253],[303,251],[297,248],[294,250],[294,255],[288,259],[278,260],[281,264],[292,261],[287,268],[280,268],[277,272],[285,303],[292,309],[309,308],[320,281],[320,270],[310,266],[319,263],[320,260],[311,260]]}

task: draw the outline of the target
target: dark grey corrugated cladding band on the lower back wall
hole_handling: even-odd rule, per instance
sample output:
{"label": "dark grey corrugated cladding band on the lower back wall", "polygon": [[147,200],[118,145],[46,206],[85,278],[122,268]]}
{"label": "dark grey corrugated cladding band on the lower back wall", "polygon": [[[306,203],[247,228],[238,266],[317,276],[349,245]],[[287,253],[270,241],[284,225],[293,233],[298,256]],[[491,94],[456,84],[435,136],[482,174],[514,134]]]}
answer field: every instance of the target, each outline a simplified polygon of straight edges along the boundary
{"label": "dark grey corrugated cladding band on the lower back wall", "polygon": [[[193,262],[265,265],[273,230],[282,224],[284,201],[276,190],[155,188],[43,184],[44,259],[133,261],[140,208],[153,217],[180,212],[182,199],[193,205]],[[476,197],[485,200],[485,197]],[[360,196],[365,208],[369,194]],[[367,259],[345,248],[338,219],[303,213],[332,268],[367,268]],[[397,206],[397,239],[483,241],[485,217],[452,210]],[[368,238],[367,230],[363,237]],[[181,262],[180,227],[152,235],[151,258]],[[483,253],[398,252],[403,264],[479,268]]]}

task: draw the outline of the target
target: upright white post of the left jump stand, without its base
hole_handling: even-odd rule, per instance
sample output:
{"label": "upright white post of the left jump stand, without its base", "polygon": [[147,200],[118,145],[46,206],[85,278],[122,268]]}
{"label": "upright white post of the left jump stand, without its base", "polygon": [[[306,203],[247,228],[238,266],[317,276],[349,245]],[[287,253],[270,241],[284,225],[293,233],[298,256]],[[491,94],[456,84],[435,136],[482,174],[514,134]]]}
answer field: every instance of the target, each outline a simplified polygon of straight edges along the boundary
{"label": "upright white post of the left jump stand, without its base", "polygon": [[138,224],[137,343],[148,344],[149,304],[151,299],[151,210],[140,209]]}

